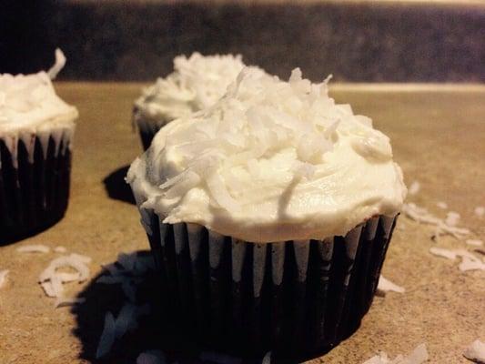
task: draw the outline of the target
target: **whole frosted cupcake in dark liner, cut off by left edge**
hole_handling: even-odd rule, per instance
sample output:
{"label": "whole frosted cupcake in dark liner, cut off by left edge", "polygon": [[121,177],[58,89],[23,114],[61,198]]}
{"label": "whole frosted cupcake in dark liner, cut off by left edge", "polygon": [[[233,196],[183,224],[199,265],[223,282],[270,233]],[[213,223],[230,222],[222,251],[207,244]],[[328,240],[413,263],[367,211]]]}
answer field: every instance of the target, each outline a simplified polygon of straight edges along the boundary
{"label": "whole frosted cupcake in dark liner, cut off by left edge", "polygon": [[64,216],[77,110],[51,79],[65,65],[33,75],[0,75],[0,242],[23,238]]}

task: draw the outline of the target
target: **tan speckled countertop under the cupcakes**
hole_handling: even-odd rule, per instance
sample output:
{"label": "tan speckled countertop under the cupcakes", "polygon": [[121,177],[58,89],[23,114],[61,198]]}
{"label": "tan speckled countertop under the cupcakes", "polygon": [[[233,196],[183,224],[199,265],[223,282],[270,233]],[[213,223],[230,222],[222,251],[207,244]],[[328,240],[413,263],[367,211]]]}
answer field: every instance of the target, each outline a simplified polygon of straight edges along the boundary
{"label": "tan speckled countertop under the cupcakes", "polygon": [[[90,279],[65,285],[68,295],[87,298],[81,305],[85,308],[54,308],[55,299],[45,297],[36,280],[60,254],[15,250],[29,244],[66,247],[93,258],[91,278],[118,253],[147,250],[136,207],[124,200],[129,195],[123,183],[124,168],[141,153],[130,123],[132,102],[141,87],[56,85],[60,96],[80,113],[69,207],[56,226],[0,247],[0,270],[10,270],[0,288],[0,363],[95,362],[105,313],[116,314],[123,294],[115,285]],[[485,86],[336,85],[331,94],[372,117],[391,138],[408,186],[413,181],[420,184],[409,202],[439,217],[447,210],[437,203],[446,202],[449,210],[460,213],[459,225],[470,228],[469,238],[485,238],[485,217],[474,214],[475,207],[485,206]],[[399,218],[383,274],[406,288],[405,293],[376,297],[357,333],[313,362],[360,364],[380,350],[394,358],[420,343],[426,343],[430,363],[469,362],[463,350],[475,339],[485,341],[485,271],[461,272],[460,259],[429,254],[433,246],[473,251],[451,237],[434,242],[432,234],[433,227]],[[141,320],[138,329],[116,342],[106,362],[135,363],[140,352],[157,349],[157,331],[149,325],[150,320]]]}

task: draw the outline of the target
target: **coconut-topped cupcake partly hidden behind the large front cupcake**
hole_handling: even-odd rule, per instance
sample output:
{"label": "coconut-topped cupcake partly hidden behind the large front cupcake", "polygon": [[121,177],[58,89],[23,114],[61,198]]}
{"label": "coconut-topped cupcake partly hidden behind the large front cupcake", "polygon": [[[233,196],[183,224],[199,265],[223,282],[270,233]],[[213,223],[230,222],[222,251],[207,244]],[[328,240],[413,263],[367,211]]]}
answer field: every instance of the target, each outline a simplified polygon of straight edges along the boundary
{"label": "coconut-topped cupcake partly hidden behind the large front cupcake", "polygon": [[135,101],[133,120],[143,147],[147,149],[158,129],[168,122],[214,105],[244,66],[239,55],[202,56],[196,52],[188,58],[175,57],[174,72],[158,78]]}

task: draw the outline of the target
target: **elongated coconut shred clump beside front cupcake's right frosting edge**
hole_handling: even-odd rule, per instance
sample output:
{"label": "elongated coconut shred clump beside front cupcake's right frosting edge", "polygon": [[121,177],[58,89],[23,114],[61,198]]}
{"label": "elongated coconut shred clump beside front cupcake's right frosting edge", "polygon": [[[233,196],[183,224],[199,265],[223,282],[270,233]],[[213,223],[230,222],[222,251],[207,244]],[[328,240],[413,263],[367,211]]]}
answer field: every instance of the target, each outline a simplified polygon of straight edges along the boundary
{"label": "elongated coconut shred clump beside front cupcake's right frosting edge", "polygon": [[411,220],[417,221],[419,224],[427,224],[436,227],[433,236],[434,238],[439,238],[441,235],[451,235],[452,237],[460,240],[470,234],[470,229],[452,225],[456,224],[458,222],[458,218],[460,218],[460,215],[457,213],[451,212],[449,213],[447,219],[443,220],[440,217],[435,217],[432,215],[426,208],[418,207],[412,202],[403,205],[402,213],[404,216],[409,217]]}

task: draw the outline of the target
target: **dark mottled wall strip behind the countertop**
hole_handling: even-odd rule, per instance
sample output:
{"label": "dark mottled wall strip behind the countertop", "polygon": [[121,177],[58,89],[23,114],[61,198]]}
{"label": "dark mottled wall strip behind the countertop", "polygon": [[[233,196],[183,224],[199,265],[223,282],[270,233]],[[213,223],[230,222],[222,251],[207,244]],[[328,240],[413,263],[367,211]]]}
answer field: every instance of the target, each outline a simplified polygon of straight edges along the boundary
{"label": "dark mottled wall strip behind the countertop", "polygon": [[193,51],[317,81],[485,82],[485,2],[0,0],[0,72],[153,80]]}

